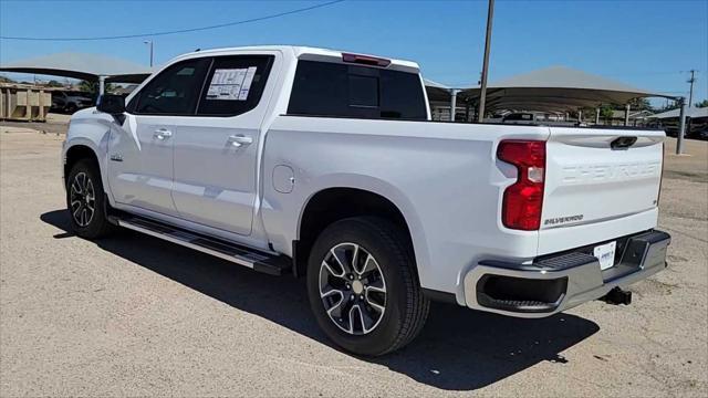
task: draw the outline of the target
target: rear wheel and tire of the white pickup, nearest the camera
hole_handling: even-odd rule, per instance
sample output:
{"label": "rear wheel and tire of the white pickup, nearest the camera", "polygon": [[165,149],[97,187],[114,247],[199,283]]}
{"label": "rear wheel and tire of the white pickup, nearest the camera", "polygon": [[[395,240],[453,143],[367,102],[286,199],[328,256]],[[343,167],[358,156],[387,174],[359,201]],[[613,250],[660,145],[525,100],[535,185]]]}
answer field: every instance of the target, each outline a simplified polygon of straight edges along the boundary
{"label": "rear wheel and tire of the white pickup, nearest the camera", "polygon": [[399,349],[425,324],[429,302],[410,244],[384,219],[351,218],[327,227],[312,248],[306,279],[317,324],[354,354]]}

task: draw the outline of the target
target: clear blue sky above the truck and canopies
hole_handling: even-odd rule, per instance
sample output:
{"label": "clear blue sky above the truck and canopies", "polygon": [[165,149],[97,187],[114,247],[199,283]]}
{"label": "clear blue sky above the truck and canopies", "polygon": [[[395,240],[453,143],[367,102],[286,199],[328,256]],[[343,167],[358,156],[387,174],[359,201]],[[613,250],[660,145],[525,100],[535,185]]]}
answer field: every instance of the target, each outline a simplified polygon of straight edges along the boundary
{"label": "clear blue sky above the truck and canopies", "polygon": [[[0,39],[0,63],[72,51],[148,64],[145,40],[154,41],[156,64],[199,48],[302,44],[416,61],[425,77],[448,86],[475,85],[479,80],[487,1],[348,0],[215,30],[149,34],[317,3],[322,1],[0,0],[0,36],[140,34],[102,41]],[[708,98],[708,0],[497,0],[490,82],[554,65],[686,96],[688,71],[698,70],[694,102]]]}

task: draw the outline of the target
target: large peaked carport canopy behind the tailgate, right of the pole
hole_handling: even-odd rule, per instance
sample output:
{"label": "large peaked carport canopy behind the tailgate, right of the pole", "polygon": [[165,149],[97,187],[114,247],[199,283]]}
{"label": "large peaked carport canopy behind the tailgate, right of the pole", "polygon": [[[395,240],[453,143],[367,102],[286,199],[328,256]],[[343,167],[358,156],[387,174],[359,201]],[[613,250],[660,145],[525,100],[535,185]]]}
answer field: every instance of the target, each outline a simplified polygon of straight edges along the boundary
{"label": "large peaked carport canopy behind the tailgate, right of the pole", "polygon": [[[478,87],[460,96],[479,100]],[[641,97],[667,97],[602,76],[565,66],[552,66],[493,82],[487,88],[487,108],[574,111],[601,104],[626,104]]]}

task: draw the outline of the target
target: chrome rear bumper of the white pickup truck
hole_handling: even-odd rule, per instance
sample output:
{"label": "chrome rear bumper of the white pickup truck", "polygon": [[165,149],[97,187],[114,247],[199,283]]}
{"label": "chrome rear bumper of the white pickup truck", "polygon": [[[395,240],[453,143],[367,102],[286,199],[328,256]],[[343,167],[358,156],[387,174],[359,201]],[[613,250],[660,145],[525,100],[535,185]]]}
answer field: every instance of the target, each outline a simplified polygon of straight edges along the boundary
{"label": "chrome rear bumper of the white pickup truck", "polygon": [[667,266],[666,232],[617,239],[618,259],[601,270],[593,247],[545,255],[530,264],[481,261],[465,275],[465,301],[475,310],[517,317],[544,317],[600,298]]}

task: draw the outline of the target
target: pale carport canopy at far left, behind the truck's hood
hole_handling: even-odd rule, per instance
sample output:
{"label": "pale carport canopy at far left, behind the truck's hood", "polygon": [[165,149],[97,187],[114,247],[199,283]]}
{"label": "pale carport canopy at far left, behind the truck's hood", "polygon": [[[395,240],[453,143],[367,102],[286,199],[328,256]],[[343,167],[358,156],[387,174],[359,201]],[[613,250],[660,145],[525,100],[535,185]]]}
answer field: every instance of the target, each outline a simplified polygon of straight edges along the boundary
{"label": "pale carport canopy at far left, behind the truck's hood", "polygon": [[0,71],[119,83],[142,83],[150,67],[112,56],[85,53],[58,53],[0,64]]}

